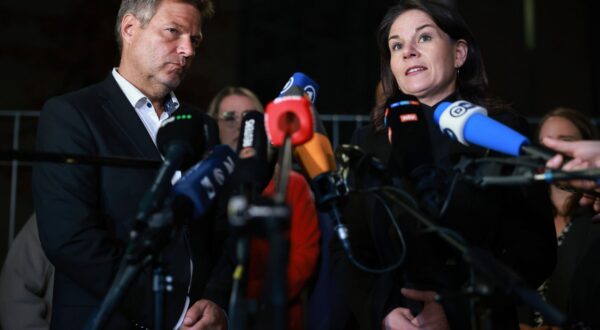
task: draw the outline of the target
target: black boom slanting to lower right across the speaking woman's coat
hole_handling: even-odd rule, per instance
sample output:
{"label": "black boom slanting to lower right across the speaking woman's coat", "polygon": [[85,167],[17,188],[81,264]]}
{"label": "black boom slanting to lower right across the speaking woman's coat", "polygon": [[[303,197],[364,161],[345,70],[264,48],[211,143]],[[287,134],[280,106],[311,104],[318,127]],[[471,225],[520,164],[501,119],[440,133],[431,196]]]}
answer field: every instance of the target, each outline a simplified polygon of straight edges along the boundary
{"label": "black boom slanting to lower right across the speaking woman's coat", "polygon": [[[504,288],[506,293],[519,298],[533,309],[539,311],[552,324],[563,325],[565,323],[566,316],[562,312],[545,302],[537,292],[529,289],[519,275],[496,261],[490,252],[481,248],[470,247],[458,240],[454,235],[448,234],[446,230],[442,230],[433,221],[422,215],[404,200],[398,198],[393,193],[393,188],[381,187],[380,191],[423,224],[427,230],[436,233],[444,242],[459,251],[463,260],[471,267],[469,285],[465,291],[471,297],[471,326],[473,329],[491,329],[491,311],[489,308],[482,308],[478,305],[479,298],[487,296],[491,292],[490,283]],[[483,277],[485,277],[487,282],[484,281]],[[475,311],[476,313],[473,313]],[[475,325],[479,325],[479,327]]]}

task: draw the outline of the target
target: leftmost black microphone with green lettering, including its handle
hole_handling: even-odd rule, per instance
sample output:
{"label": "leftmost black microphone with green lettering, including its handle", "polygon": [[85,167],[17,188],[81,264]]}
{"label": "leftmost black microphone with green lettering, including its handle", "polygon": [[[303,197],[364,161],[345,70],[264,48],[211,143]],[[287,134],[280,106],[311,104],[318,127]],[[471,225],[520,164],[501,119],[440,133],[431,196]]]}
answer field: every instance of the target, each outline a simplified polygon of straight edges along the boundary
{"label": "leftmost black microphone with green lettering, including its handle", "polygon": [[203,132],[204,120],[200,113],[177,113],[161,124],[156,142],[164,160],[152,186],[140,201],[136,214],[137,230],[134,229],[133,236],[142,229],[140,225],[144,227],[143,222],[152,212],[162,205],[173,174],[200,160],[205,149]]}

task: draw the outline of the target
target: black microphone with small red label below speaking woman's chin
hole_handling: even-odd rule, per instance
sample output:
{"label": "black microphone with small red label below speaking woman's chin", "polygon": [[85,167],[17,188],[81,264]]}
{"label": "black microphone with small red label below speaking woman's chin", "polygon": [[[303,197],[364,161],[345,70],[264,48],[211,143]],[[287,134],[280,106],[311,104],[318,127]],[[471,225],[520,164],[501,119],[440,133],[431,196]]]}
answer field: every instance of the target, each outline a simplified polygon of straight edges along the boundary
{"label": "black microphone with small red label below speaking woman's chin", "polygon": [[388,169],[392,175],[408,179],[421,207],[439,217],[447,195],[447,174],[433,160],[421,103],[412,95],[389,98],[384,123],[392,145]]}

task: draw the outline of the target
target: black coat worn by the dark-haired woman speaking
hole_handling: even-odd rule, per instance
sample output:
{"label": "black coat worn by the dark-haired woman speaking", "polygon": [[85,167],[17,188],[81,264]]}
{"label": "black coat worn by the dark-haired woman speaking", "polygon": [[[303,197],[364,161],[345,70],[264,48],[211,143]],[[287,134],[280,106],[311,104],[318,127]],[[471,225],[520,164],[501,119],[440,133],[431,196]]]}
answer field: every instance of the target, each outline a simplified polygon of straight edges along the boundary
{"label": "black coat worn by the dark-haired woman speaking", "polygon": [[[432,109],[424,110],[432,116]],[[510,126],[519,126],[518,118],[508,114],[502,117],[498,119]],[[451,141],[434,127],[432,118],[427,116],[427,120],[435,164],[447,173],[451,173],[460,156],[480,157],[485,152]],[[401,161],[394,159],[398,155],[394,156],[386,133],[376,133],[372,126],[355,132],[352,143],[389,166],[394,166],[393,161]],[[370,196],[357,195],[341,204],[355,257],[373,268],[395,263],[400,255],[400,245],[390,225],[392,219],[381,203]],[[373,275],[358,270],[341,249],[334,247],[334,269],[346,287],[347,300],[360,328],[380,328],[383,318],[395,307],[418,311],[418,304],[411,304],[400,294],[400,288],[409,286],[442,294],[451,328],[469,329],[467,301],[460,297],[460,289],[469,277],[461,256],[435,235],[424,234],[419,229],[422,227],[401,209],[394,210],[394,219],[402,229],[407,246],[406,260],[394,272]],[[459,181],[447,214],[437,221],[460,233],[470,246],[490,252],[521,275],[531,288],[541,284],[553,269],[556,243],[551,204],[544,187],[483,189]],[[496,292],[502,292],[502,289],[499,287]],[[495,329],[517,327],[511,298],[495,295],[488,306],[492,308]]]}

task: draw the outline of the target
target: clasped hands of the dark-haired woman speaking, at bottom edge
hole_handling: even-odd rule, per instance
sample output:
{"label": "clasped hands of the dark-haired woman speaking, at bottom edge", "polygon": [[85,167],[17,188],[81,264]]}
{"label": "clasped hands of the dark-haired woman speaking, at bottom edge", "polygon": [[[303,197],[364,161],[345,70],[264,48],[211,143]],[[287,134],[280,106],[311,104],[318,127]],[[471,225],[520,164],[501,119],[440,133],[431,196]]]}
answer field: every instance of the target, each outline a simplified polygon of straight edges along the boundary
{"label": "clasped hands of the dark-haired woman speaking, at bottom edge", "polygon": [[382,328],[385,330],[448,330],[446,313],[436,300],[433,291],[402,289],[402,294],[412,300],[422,301],[423,310],[416,317],[406,308],[396,308],[383,319]]}

